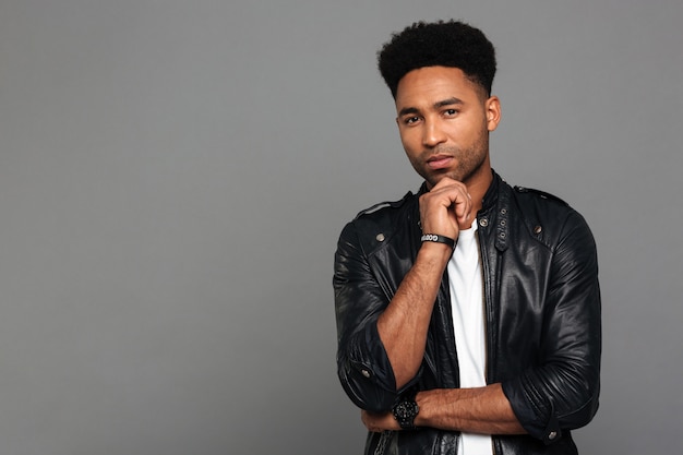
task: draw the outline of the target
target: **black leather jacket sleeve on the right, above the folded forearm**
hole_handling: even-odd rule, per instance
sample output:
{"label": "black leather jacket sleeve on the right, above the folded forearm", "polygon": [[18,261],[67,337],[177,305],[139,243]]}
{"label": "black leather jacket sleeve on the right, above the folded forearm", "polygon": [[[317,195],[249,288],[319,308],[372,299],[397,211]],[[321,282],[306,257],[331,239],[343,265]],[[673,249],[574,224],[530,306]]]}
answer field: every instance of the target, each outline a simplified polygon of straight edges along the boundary
{"label": "black leather jacket sleeve on the right, above the folded forearm", "polygon": [[502,384],[519,422],[547,444],[595,416],[601,355],[596,247],[576,212],[564,223],[552,254],[540,366]]}

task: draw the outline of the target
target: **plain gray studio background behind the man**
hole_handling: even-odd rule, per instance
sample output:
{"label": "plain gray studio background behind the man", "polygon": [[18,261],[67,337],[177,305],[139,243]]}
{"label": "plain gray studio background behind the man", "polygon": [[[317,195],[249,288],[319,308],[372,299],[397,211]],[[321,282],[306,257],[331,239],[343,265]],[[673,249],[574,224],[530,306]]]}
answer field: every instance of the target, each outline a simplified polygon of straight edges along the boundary
{"label": "plain gray studio background behind the man", "polygon": [[420,181],[390,33],[496,45],[492,161],[599,246],[584,454],[679,453],[683,2],[0,0],[0,454],[352,454],[343,225]]}

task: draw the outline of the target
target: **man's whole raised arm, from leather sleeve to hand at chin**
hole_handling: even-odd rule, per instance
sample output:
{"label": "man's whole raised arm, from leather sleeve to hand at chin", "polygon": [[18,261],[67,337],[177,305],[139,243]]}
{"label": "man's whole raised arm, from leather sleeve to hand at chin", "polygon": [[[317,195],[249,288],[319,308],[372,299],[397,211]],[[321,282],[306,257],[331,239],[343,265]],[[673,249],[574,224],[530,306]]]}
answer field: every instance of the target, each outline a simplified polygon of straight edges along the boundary
{"label": "man's whole raised arm, from leather sleeve to hand at chin", "polygon": [[[465,185],[451,180],[421,197],[420,212],[424,232],[457,238],[458,223],[470,219],[471,200]],[[359,243],[355,228],[347,226],[337,248],[334,279],[338,373],[357,406],[387,410],[419,372],[452,251],[441,243],[423,244],[390,300]]]}

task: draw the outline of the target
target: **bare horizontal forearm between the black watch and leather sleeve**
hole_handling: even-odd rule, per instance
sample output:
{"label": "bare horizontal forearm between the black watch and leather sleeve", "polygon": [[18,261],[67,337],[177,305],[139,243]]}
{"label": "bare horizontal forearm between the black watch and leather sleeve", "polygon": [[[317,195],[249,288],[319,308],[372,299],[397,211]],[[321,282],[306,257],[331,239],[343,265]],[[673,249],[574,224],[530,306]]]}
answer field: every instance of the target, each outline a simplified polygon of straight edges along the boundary
{"label": "bare horizontal forearm between the black watch and leather sleeve", "polygon": [[526,433],[501,384],[476,388],[436,388],[420,392],[418,427],[482,434]]}

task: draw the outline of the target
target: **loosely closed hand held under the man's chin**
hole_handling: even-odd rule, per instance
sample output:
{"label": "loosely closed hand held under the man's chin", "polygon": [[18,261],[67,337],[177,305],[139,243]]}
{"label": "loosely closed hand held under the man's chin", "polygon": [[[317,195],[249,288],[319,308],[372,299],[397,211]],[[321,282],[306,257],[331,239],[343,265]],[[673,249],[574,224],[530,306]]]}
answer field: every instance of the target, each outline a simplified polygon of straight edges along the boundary
{"label": "loosely closed hand held under the man's chin", "polygon": [[471,226],[472,200],[467,187],[444,177],[428,193],[420,196],[422,232],[457,239],[460,229]]}

